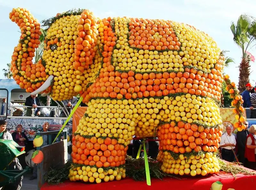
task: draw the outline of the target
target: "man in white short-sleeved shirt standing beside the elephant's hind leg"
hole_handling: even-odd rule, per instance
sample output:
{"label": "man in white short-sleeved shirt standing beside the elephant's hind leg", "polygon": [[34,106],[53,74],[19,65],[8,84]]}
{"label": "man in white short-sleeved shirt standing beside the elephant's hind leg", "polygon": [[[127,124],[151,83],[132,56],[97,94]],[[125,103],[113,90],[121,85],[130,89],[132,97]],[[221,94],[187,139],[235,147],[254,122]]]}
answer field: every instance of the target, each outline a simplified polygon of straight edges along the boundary
{"label": "man in white short-sleeved shirt standing beside the elephant's hind leg", "polygon": [[228,125],[226,127],[226,132],[223,133],[221,136],[220,147],[221,149],[221,156],[223,160],[228,162],[234,162],[235,155],[232,149],[235,151],[236,146],[236,139],[235,136],[232,134],[232,126]]}

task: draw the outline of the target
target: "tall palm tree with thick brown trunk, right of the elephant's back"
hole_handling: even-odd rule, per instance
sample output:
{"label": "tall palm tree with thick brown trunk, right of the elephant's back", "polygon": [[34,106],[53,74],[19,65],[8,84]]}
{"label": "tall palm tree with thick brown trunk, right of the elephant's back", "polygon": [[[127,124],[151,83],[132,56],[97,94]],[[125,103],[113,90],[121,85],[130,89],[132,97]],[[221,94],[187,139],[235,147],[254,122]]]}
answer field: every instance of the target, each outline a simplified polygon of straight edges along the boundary
{"label": "tall palm tree with thick brown trunk, right of the elephant's back", "polygon": [[237,23],[231,23],[230,29],[234,35],[234,42],[242,49],[242,61],[239,65],[238,90],[245,90],[250,76],[250,55],[247,54],[256,42],[256,19],[246,14],[241,15]]}

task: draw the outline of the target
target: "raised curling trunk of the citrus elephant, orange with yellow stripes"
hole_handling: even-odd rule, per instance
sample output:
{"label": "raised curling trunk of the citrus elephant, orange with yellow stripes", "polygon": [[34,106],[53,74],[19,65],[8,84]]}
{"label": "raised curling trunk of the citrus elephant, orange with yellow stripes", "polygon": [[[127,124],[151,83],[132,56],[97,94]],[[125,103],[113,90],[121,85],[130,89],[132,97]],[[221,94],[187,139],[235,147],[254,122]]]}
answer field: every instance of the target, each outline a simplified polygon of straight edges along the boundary
{"label": "raised curling trunk of the citrus elephant, orange with yellow stripes", "polygon": [[[36,48],[40,44],[40,23],[24,8],[12,9],[9,18],[20,27],[20,40],[14,48],[11,61],[11,72],[20,88],[27,92],[38,89],[49,77],[45,72],[42,60],[33,64]],[[48,93],[51,87],[44,90]]]}

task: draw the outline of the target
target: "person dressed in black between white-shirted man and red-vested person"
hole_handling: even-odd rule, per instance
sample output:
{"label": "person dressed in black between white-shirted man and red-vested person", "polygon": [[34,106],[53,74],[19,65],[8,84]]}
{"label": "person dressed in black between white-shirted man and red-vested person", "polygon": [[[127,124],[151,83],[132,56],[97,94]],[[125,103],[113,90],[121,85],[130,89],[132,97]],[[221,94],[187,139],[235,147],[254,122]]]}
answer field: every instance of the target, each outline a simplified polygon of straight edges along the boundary
{"label": "person dressed in black between white-shirted man and red-vested person", "polygon": [[249,134],[249,132],[247,131],[248,122],[244,122],[244,125],[246,126],[246,129],[243,131],[237,131],[236,133],[238,161],[243,164],[245,164],[244,151],[247,135]]}

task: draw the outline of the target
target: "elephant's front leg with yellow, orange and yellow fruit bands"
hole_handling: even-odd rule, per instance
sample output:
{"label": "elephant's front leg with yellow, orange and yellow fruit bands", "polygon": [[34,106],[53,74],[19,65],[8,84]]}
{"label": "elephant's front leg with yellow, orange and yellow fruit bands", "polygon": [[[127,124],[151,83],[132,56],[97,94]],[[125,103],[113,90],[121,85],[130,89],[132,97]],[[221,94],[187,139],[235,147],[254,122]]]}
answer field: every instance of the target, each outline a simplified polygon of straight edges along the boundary
{"label": "elephant's front leg with yellow, orange and yellow fruit bands", "polygon": [[100,183],[125,178],[125,155],[135,134],[128,100],[92,99],[72,139],[69,179]]}

